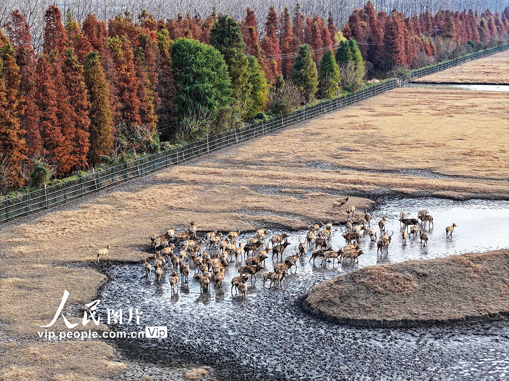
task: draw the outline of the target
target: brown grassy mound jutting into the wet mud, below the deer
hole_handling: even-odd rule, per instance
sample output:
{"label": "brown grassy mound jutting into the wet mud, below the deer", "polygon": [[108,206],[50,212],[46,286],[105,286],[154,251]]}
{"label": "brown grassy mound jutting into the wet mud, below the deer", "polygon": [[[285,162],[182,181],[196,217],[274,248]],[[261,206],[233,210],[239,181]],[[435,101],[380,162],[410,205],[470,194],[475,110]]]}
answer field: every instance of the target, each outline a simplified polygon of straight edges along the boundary
{"label": "brown grassy mound jutting into the wet mud, below the deer", "polygon": [[304,306],[322,317],[370,326],[507,316],[508,268],[509,250],[364,267],[320,283]]}

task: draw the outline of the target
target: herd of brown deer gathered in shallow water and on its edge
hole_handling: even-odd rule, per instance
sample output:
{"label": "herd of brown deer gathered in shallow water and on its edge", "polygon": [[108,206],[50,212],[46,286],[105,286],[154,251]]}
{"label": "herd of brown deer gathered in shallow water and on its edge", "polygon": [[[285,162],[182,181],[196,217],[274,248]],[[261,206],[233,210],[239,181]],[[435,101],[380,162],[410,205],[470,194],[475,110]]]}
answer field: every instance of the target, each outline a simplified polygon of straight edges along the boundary
{"label": "herd of brown deer gathered in shallow water and on its edge", "polygon": [[[334,250],[330,246],[332,237],[332,223],[309,225],[305,240],[299,238],[298,245],[294,246],[291,255],[288,254],[288,246],[291,244],[288,240],[288,233],[268,236],[265,229],[259,229],[248,238],[244,244],[240,242],[240,230],[229,232],[225,235],[217,230],[207,232],[199,238],[198,229],[194,220],[190,221],[186,232],[176,233],[175,227],[166,230],[162,234],[155,234],[150,237],[153,255],[150,258],[143,259],[143,271],[147,277],[154,277],[156,282],[160,283],[165,276],[167,269],[169,271],[169,284],[172,294],[178,293],[180,282],[188,283],[191,269],[194,274],[192,279],[200,284],[201,292],[209,292],[211,283],[216,289],[221,289],[225,278],[225,271],[232,262],[245,261],[245,265],[238,267],[238,276],[231,281],[231,293],[238,295],[240,299],[245,299],[247,295],[247,282],[256,282],[257,274],[265,269],[265,261],[271,257],[273,261],[273,271],[266,271],[261,278],[263,286],[269,283],[269,289],[281,287],[282,281],[287,274],[292,271],[292,267],[297,269],[299,258],[306,255],[306,249],[313,250],[308,262],[320,258],[321,266],[326,266],[328,262],[340,262],[346,265],[348,261],[352,264],[358,263],[358,257],[363,254],[360,247],[361,237],[367,233],[372,242],[377,245],[377,257],[388,253],[389,246],[394,235],[393,231],[386,230],[387,216],[383,214],[378,222],[379,231],[371,227],[372,216],[364,210],[357,216],[355,206],[346,205],[350,198],[341,198],[332,203],[333,209],[341,210],[345,206],[348,221],[345,225],[343,238],[346,245]],[[428,244],[429,236],[423,230],[428,225],[429,229],[434,225],[433,216],[427,210],[419,210],[417,218],[409,218],[406,213],[400,214],[401,241],[406,245],[407,239],[419,238],[423,246]],[[452,237],[456,224],[445,228],[446,237]],[[380,239],[377,240],[378,234]],[[270,247],[269,247],[270,244]],[[177,249],[177,245],[180,246]],[[97,261],[103,256],[107,256],[109,245],[98,250]],[[274,260],[275,258],[275,260]],[[179,276],[180,274],[180,276]]]}

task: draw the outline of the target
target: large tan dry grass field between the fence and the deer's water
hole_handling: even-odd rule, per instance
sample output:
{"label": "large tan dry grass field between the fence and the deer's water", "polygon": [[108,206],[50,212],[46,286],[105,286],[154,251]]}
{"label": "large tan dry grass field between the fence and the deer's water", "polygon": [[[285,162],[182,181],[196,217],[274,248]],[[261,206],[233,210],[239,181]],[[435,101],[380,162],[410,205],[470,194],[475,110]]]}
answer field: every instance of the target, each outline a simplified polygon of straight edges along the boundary
{"label": "large tan dry grass field between the fence and the deer's water", "polygon": [[133,366],[114,361],[105,342],[48,344],[36,335],[64,288],[66,315],[82,316],[106,280],[95,263],[106,244],[110,261],[141,261],[151,234],[191,219],[200,231],[341,223],[346,213],[331,203],[362,192],[509,198],[506,106],[500,93],[391,90],[0,227],[0,380],[96,380]]}

